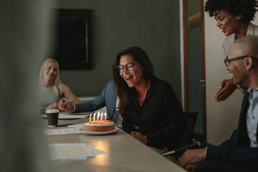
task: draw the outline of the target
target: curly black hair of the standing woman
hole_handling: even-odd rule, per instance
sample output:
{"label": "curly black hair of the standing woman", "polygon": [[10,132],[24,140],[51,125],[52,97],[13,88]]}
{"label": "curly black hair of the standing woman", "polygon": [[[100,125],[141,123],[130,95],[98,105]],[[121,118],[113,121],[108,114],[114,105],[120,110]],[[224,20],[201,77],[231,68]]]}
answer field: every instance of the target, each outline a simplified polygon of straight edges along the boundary
{"label": "curly black hair of the standing woman", "polygon": [[257,0],[207,0],[205,11],[209,12],[209,17],[217,15],[220,10],[226,10],[231,15],[242,15],[241,22],[249,23],[254,20],[257,12]]}

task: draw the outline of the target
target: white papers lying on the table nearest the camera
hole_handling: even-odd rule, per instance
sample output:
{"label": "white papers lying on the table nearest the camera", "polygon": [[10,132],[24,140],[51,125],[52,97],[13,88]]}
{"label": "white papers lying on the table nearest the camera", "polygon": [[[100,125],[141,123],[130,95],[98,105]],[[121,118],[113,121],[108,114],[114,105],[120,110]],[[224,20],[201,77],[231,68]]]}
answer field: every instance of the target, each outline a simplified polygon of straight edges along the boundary
{"label": "white papers lying on the table nearest the camera", "polygon": [[106,153],[87,144],[49,144],[51,160],[85,160]]}

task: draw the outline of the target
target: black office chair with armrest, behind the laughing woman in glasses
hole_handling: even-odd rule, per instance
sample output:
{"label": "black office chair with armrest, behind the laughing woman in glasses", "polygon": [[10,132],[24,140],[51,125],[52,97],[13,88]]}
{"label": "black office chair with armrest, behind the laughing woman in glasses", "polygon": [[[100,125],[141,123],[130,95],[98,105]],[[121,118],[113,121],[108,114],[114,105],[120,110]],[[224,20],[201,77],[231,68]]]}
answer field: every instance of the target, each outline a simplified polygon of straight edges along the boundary
{"label": "black office chair with armrest, behind the laughing woman in glasses", "polygon": [[193,139],[193,129],[196,124],[197,114],[198,112],[184,112],[186,126],[180,141],[180,148],[162,153],[162,156],[173,155],[174,157],[180,157],[185,150],[200,147],[200,141]]}

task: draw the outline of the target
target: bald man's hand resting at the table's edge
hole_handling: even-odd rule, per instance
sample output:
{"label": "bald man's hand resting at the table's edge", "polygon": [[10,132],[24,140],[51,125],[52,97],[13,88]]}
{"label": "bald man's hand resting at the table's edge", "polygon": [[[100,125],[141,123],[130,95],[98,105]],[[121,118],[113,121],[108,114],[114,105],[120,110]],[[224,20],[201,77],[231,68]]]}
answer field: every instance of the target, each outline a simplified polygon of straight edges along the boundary
{"label": "bald man's hand resting at the table's edge", "polygon": [[184,155],[180,157],[179,164],[185,169],[192,170],[196,167],[198,162],[204,161],[205,158],[205,148],[187,150]]}

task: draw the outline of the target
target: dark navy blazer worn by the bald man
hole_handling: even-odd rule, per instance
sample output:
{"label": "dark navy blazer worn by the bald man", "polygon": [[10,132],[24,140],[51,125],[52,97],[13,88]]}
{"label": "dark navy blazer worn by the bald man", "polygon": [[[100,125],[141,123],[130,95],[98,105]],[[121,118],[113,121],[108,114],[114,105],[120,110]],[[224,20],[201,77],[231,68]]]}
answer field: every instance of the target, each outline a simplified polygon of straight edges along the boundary
{"label": "dark navy blazer worn by the bald man", "polygon": [[250,148],[250,139],[246,128],[249,95],[250,93],[246,92],[243,97],[239,124],[236,130],[234,130],[230,139],[227,139],[223,144],[207,146],[206,160],[232,162],[240,166],[258,169],[258,148]]}

